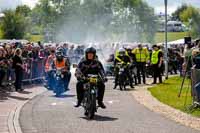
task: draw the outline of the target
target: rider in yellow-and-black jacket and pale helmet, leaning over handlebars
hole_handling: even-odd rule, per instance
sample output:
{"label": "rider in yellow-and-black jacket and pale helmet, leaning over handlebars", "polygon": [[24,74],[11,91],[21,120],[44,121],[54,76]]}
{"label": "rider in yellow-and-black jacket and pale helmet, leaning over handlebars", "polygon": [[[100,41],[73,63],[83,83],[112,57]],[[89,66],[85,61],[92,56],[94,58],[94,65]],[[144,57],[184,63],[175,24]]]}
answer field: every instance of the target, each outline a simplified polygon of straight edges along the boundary
{"label": "rider in yellow-and-black jacket and pale helmet, leaning over handlebars", "polygon": [[116,52],[116,55],[115,55],[115,61],[114,61],[114,68],[115,68],[115,86],[113,89],[116,89],[117,85],[118,85],[118,71],[119,71],[119,68],[117,66],[117,63],[121,63],[123,65],[126,66],[125,68],[125,72],[128,76],[128,80],[129,80],[129,83],[130,83],[130,86],[131,88],[134,88],[133,87],[133,79],[132,79],[132,76],[129,72],[129,66],[130,66],[130,63],[131,63],[131,60],[130,60],[130,57],[126,55],[126,51],[124,48],[120,48],[117,52]]}

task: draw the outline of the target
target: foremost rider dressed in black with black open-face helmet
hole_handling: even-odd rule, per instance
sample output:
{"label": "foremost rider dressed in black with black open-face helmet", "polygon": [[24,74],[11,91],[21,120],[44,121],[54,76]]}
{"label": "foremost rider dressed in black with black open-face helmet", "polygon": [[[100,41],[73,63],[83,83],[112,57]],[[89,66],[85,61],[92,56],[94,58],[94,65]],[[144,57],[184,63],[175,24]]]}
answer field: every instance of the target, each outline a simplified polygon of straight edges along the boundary
{"label": "foremost rider dressed in black with black open-face helmet", "polygon": [[[78,80],[76,84],[77,91],[77,105],[75,107],[79,107],[84,97],[84,84],[87,83],[87,75],[88,74],[97,74],[101,75],[104,81],[106,81],[105,71],[102,63],[96,58],[96,49],[93,47],[87,48],[85,51],[85,57],[79,62],[78,67],[76,69],[75,76]],[[105,109],[106,106],[103,103],[105,84],[104,81],[100,81],[98,83],[98,105]]]}

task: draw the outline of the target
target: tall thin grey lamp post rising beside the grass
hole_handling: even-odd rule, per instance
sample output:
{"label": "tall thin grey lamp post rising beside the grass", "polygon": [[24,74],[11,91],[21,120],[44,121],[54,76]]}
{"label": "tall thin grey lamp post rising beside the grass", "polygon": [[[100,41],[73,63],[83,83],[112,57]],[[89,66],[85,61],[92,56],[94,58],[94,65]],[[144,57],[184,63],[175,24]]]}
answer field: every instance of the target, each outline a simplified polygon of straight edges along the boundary
{"label": "tall thin grey lamp post rising beside the grass", "polygon": [[168,48],[167,48],[167,0],[165,1],[165,79],[168,79]]}

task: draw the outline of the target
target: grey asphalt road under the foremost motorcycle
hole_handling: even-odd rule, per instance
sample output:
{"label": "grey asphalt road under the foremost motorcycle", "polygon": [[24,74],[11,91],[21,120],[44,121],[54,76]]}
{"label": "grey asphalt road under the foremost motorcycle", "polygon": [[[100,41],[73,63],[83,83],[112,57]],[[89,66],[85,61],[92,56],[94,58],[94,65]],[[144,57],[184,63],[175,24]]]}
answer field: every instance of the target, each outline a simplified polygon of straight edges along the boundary
{"label": "grey asphalt road under the foremost motorcycle", "polygon": [[24,133],[198,133],[152,112],[137,103],[128,91],[105,92],[107,109],[99,109],[94,120],[87,120],[83,109],[74,108],[75,84],[62,98],[51,92],[35,97],[20,113]]}

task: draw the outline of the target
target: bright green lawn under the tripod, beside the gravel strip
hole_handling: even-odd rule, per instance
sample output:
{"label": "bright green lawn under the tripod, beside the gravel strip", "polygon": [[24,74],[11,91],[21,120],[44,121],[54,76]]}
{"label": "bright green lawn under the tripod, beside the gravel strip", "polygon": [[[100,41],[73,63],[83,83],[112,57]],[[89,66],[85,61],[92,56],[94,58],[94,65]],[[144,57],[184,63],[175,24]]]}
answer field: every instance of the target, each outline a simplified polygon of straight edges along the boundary
{"label": "bright green lawn under the tripod, beside the gravel strip", "polygon": [[191,88],[188,89],[190,81],[188,79],[184,83],[181,97],[178,97],[181,82],[182,78],[172,77],[166,80],[163,84],[156,85],[155,87],[149,88],[148,90],[154,97],[156,97],[162,103],[167,104],[183,112],[200,117],[200,110],[190,112],[187,109],[192,104],[192,97],[190,93]]}

